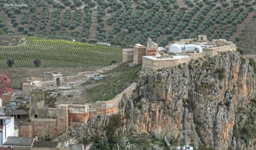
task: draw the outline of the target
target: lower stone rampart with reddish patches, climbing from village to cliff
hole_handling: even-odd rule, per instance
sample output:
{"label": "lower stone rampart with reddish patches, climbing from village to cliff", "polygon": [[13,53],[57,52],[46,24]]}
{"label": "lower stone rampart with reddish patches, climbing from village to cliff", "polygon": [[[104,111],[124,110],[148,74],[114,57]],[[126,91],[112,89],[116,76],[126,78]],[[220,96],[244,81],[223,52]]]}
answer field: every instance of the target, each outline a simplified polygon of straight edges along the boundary
{"label": "lower stone rampart with reddish patches, climbing from village to cliff", "polygon": [[[60,104],[56,108],[46,108],[43,111],[39,110],[44,107],[40,108],[36,111],[37,118],[31,117],[32,129],[30,126],[22,126],[19,129],[21,135],[32,130],[32,137],[49,135],[51,138],[55,138],[67,132],[69,128],[77,128],[86,124],[90,118],[98,115],[117,114],[119,102],[124,95],[131,98],[136,85],[137,83],[131,84],[109,101],[97,101],[85,105]],[[37,96],[36,94],[34,96]],[[33,103],[37,100],[31,99],[31,101]]]}

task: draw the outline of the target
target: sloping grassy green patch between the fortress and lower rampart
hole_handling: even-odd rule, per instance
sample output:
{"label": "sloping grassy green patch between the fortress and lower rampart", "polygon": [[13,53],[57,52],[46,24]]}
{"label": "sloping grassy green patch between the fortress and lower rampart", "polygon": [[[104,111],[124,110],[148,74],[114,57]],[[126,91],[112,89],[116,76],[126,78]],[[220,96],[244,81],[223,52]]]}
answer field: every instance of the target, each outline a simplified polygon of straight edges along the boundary
{"label": "sloping grassy green patch between the fortress and lower rampart", "polygon": [[94,101],[108,101],[119,94],[138,78],[137,73],[142,65],[129,67],[127,63],[119,65],[105,73],[105,78],[95,83],[99,84],[87,90],[87,94]]}

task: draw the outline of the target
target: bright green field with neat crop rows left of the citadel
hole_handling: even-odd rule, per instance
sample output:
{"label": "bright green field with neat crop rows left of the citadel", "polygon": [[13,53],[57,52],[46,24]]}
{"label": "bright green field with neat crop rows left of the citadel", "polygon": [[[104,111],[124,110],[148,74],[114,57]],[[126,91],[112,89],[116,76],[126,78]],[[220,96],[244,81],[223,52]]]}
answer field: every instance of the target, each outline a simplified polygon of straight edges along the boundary
{"label": "bright green field with neat crop rows left of the citadel", "polygon": [[16,67],[34,66],[41,60],[41,66],[49,67],[103,67],[112,60],[121,61],[122,50],[116,47],[25,37],[27,42],[19,46],[0,46],[0,66],[7,66],[7,59],[14,59]]}

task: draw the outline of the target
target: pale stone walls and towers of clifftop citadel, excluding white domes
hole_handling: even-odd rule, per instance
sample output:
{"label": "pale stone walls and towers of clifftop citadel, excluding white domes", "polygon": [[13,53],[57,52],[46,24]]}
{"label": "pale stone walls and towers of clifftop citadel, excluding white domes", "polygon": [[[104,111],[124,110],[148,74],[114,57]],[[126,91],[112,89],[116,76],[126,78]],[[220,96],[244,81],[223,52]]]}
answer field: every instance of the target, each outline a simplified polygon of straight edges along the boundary
{"label": "pale stone walls and towers of clifftop citadel, excluding white domes", "polygon": [[[192,41],[197,40],[199,42],[207,41],[206,35],[199,35],[198,38],[190,38],[190,39],[180,39],[175,41],[176,44],[188,44]],[[184,55],[173,56],[173,58],[158,58],[158,45],[151,41],[149,38],[147,42],[146,50],[140,49],[138,51],[138,45],[134,46],[134,49],[123,49],[123,62],[133,60],[134,64],[142,63],[143,69],[162,69],[165,67],[175,67],[177,65],[187,63],[192,59],[203,58],[205,56],[215,56],[222,52],[227,51],[236,51],[236,45],[231,41],[226,41],[224,39],[217,39],[213,40],[213,45],[217,45],[217,47],[210,47],[210,48],[202,48],[201,53],[190,53]],[[142,47],[142,45],[139,45]],[[170,46],[167,46],[170,48]],[[133,54],[132,54],[133,52]],[[128,54],[129,53],[129,54]],[[129,59],[128,59],[129,55]],[[133,56],[133,58],[132,58]],[[142,58],[142,61],[138,61]]]}

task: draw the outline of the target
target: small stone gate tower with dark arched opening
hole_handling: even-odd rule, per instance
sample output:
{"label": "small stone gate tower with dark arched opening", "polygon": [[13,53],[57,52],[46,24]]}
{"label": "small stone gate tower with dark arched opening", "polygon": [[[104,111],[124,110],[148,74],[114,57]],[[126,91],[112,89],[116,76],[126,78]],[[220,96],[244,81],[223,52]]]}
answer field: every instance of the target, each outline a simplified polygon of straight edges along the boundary
{"label": "small stone gate tower with dark arched opening", "polygon": [[56,85],[62,84],[63,77],[61,72],[45,72],[43,73],[43,81],[56,81]]}

